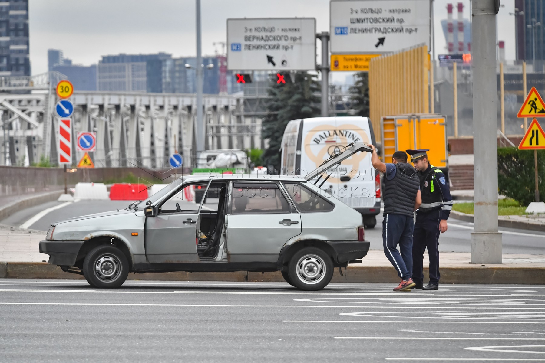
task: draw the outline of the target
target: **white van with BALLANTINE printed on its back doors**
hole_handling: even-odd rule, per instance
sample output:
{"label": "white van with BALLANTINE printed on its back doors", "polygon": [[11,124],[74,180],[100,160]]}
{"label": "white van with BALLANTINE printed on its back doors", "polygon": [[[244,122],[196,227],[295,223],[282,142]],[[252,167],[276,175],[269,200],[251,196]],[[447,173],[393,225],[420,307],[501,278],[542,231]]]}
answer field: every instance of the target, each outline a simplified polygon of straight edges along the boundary
{"label": "white van with BALLANTINE printed on its back doors", "polygon": [[[289,121],[282,137],[281,174],[305,176],[350,143],[375,144],[369,118],[317,117]],[[319,180],[317,185],[323,181]],[[377,224],[380,179],[371,164],[370,153],[360,152],[344,160],[322,184],[322,189],[360,212],[365,227]]]}

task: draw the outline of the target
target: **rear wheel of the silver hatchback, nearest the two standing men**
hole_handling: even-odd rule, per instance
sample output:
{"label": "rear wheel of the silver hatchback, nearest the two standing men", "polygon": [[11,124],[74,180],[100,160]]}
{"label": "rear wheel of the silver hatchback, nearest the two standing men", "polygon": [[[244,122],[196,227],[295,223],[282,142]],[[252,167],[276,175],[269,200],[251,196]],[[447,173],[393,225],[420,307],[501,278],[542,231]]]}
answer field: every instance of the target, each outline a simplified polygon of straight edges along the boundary
{"label": "rear wheel of the silver hatchback, nearest the two standing men", "polygon": [[333,277],[333,261],[323,250],[305,247],[289,261],[288,275],[293,286],[301,290],[322,290]]}

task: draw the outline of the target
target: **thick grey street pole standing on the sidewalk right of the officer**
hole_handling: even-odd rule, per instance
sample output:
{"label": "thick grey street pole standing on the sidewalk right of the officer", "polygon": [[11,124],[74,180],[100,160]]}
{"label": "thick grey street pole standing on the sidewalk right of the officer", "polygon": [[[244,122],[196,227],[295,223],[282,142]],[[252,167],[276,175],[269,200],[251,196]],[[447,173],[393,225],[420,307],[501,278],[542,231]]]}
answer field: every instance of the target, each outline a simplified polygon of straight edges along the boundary
{"label": "thick grey street pole standing on the sidewalk right of the officer", "polygon": [[501,263],[495,13],[495,0],[471,2],[475,164],[475,232],[471,233],[471,263]]}

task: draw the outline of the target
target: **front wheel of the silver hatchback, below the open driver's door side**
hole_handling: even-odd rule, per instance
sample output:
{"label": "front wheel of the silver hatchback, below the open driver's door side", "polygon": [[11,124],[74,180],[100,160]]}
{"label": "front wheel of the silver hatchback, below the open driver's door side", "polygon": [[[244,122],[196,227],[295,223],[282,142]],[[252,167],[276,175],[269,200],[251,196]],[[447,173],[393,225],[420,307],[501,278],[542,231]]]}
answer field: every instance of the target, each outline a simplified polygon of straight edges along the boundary
{"label": "front wheel of the silver hatchback, below the open driver's door side", "polygon": [[116,247],[95,247],[83,260],[83,276],[93,287],[117,288],[123,285],[128,275],[127,257]]}

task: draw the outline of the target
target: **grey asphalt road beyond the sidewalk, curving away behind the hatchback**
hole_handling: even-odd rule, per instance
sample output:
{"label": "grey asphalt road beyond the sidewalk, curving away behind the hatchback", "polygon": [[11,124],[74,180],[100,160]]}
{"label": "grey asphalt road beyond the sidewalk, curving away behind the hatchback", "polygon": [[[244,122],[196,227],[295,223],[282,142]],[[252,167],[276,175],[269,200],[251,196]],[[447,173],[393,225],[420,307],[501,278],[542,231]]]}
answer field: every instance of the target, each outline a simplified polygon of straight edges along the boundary
{"label": "grey asphalt road beyond the sidewalk, curving away behind the hatchback", "polygon": [[[63,202],[49,202],[40,206],[27,208],[26,210],[12,214],[0,223],[21,226],[31,218],[36,218],[47,208],[61,206]],[[46,231],[51,223],[66,218],[83,216],[85,214],[99,213],[125,208],[129,205],[128,201],[117,200],[81,200],[64,204],[56,210],[52,210],[35,220],[28,227],[36,230]],[[214,206],[214,205],[210,205]],[[38,216],[39,217],[39,216]],[[377,226],[374,229],[366,229],[366,240],[371,242],[371,249],[383,249],[382,246],[382,216],[377,216]],[[545,254],[545,232],[526,231],[519,229],[500,228],[503,232],[503,252],[508,254]],[[473,223],[463,222],[461,220],[450,219],[449,230],[439,237],[439,250],[441,252],[470,252],[471,232],[473,232]]]}

